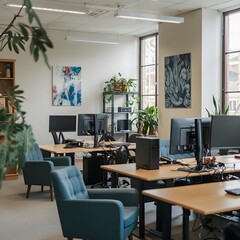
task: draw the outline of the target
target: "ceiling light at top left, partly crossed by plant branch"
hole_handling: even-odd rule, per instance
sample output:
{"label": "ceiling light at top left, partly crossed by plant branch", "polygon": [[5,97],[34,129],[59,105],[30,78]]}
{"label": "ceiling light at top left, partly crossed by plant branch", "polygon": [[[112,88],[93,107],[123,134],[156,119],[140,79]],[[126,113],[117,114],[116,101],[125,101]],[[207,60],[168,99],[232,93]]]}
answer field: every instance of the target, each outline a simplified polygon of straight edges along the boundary
{"label": "ceiling light at top left, partly crossed by plant branch", "polygon": [[[5,5],[9,7],[21,7],[23,4],[22,0],[6,0]],[[77,5],[70,5],[64,3],[53,3],[53,2],[41,2],[32,1],[32,8],[36,10],[51,11],[51,12],[63,12],[72,14],[87,14],[89,10],[85,7],[79,7]]]}

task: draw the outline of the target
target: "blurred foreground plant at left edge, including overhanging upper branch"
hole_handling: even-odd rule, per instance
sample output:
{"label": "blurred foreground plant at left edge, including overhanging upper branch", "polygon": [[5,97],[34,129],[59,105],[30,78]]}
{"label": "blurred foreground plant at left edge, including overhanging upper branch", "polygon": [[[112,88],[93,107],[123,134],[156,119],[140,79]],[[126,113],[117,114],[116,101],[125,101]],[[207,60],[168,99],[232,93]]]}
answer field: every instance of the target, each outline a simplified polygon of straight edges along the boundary
{"label": "blurred foreground plant at left edge, including overhanging upper branch", "polygon": [[[20,13],[23,7],[25,7],[29,24],[18,23],[15,26],[16,19],[22,17]],[[48,48],[53,48],[53,44],[32,9],[31,1],[24,0],[22,8],[0,34],[0,51],[8,47],[10,51],[18,54],[20,50],[25,51],[25,44],[28,41],[30,41],[30,54],[34,60],[38,61],[39,53],[41,53],[45,63],[49,66],[46,51]],[[24,165],[25,156],[34,142],[32,128],[27,124],[26,113],[21,109],[21,103],[24,100],[23,91],[19,90],[19,86],[5,91],[8,102],[14,111],[13,114],[8,114],[7,108],[0,110],[0,187],[5,168],[18,166],[20,171]]]}

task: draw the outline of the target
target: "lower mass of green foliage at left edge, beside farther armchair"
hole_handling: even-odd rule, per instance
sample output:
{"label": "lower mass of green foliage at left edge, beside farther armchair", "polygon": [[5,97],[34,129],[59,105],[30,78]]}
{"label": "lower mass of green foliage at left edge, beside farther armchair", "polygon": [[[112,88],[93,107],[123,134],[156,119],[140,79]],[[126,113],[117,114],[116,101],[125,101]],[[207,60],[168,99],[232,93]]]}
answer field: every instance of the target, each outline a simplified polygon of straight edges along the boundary
{"label": "lower mass of green foliage at left edge, beside farther armchair", "polygon": [[22,170],[26,154],[35,141],[32,128],[26,123],[26,113],[21,109],[23,91],[14,86],[6,92],[8,105],[13,107],[14,112],[8,114],[7,107],[0,110],[0,129],[4,136],[0,142],[0,184],[5,167],[18,166],[18,170]]}

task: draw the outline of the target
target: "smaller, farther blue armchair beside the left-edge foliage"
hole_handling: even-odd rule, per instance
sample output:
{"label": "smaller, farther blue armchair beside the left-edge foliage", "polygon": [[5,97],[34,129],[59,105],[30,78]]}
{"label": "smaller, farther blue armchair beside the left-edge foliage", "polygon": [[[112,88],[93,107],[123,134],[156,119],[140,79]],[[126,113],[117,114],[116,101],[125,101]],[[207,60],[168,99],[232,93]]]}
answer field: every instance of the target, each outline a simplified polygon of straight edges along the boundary
{"label": "smaller, farther blue armchair beside the left-edge foliage", "polygon": [[49,186],[51,201],[53,201],[50,172],[56,168],[70,165],[71,158],[68,156],[43,158],[39,145],[34,143],[31,152],[25,159],[25,165],[23,167],[24,182],[25,185],[28,186],[26,197],[29,198],[32,185],[41,186],[41,191],[43,191],[44,186]]}

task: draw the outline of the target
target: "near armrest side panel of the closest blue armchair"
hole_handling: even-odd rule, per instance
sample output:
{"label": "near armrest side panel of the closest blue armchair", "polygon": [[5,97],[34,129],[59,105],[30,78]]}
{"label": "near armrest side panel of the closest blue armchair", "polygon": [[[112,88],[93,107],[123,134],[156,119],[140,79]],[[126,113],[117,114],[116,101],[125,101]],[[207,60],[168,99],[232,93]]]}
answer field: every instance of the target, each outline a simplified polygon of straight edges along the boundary
{"label": "near armrest side panel of the closest blue armchair", "polygon": [[110,239],[106,237],[109,232],[118,235],[124,227],[124,210],[119,201],[64,200],[57,204],[65,237],[80,233],[79,236],[84,236],[84,239],[96,239],[96,236],[98,239]]}

